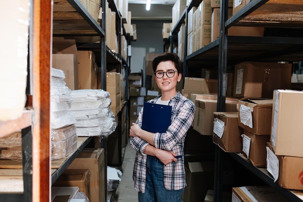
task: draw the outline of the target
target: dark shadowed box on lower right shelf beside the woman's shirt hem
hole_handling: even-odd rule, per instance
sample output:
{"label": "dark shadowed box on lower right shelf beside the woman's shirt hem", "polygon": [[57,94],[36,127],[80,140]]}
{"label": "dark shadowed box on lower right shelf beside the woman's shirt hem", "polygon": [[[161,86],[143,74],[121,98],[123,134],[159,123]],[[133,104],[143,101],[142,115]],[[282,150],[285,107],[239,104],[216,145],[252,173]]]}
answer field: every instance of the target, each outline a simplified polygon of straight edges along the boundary
{"label": "dark shadowed box on lower right shelf beside the woman's shirt hem", "polygon": [[184,189],[184,202],[200,202],[208,189],[213,188],[214,162],[188,162],[185,166],[187,186]]}

